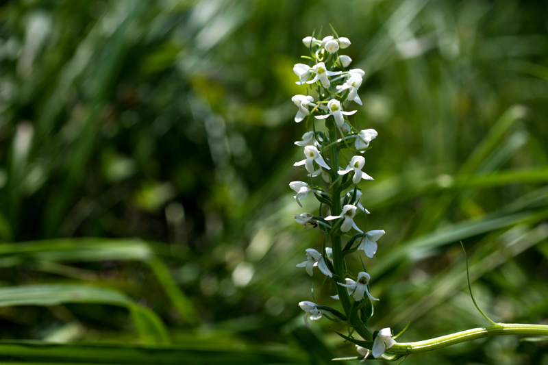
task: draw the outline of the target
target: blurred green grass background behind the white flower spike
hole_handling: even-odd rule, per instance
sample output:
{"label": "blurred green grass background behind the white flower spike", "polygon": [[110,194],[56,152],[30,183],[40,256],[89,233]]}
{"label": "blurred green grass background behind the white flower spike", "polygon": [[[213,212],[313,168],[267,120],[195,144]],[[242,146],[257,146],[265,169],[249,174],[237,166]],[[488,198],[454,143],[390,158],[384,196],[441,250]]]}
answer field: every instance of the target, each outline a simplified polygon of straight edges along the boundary
{"label": "blurred green grass background behind the white flower spike", "polygon": [[[367,229],[386,231],[362,257],[381,299],[371,327],[410,321],[408,342],[488,325],[460,240],[484,312],[548,324],[544,1],[2,3],[2,340],[147,343],[138,307],[178,347],[235,364],[358,355],[325,318],[304,327],[297,306],[314,284],[340,309],[322,275],[295,268],[321,234],[293,219],[317,203],[299,207],[288,188],[305,177],[292,167],[306,131],[292,66],[329,23],[366,72],[358,127],[379,133],[364,155],[375,181],[360,185]],[[71,290],[91,287],[125,296],[133,321],[114,299],[73,303]],[[406,364],[548,364],[548,353],[507,336]]]}

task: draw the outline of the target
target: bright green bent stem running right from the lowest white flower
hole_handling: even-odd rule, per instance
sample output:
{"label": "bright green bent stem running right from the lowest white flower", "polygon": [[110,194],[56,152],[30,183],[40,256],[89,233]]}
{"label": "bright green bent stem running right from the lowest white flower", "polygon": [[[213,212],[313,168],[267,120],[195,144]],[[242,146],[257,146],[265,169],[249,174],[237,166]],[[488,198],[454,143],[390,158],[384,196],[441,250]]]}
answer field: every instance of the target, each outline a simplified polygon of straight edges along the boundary
{"label": "bright green bent stem running right from the lowest white flower", "polygon": [[390,347],[390,349],[386,350],[386,352],[395,353],[397,355],[405,355],[408,353],[421,353],[425,351],[441,349],[442,347],[451,346],[452,344],[459,344],[460,342],[475,340],[477,338],[501,335],[548,336],[548,325],[521,325],[514,323],[501,323],[499,325],[489,327],[467,329],[466,331],[452,333],[447,336],[436,337],[430,340],[417,342],[399,342],[393,347]]}

